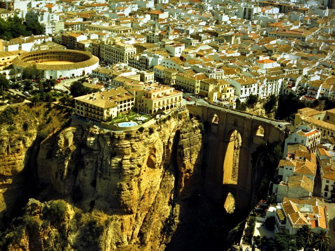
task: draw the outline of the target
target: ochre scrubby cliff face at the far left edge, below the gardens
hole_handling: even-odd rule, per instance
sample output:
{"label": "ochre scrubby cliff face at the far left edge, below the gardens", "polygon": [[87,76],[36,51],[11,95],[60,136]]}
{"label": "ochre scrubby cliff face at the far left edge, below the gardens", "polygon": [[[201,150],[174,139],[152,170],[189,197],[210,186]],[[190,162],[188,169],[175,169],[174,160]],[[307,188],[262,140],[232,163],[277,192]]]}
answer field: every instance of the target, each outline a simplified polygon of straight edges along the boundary
{"label": "ochre scrubby cliff face at the far left edge, below the gardens", "polygon": [[[28,104],[9,107],[1,111],[0,124],[0,228],[5,219],[11,217],[17,208],[24,206],[24,188],[28,166],[34,162],[38,143],[48,134],[57,131],[68,121],[66,109],[53,105]],[[47,122],[47,117],[51,119]],[[3,218],[4,217],[4,218]]]}

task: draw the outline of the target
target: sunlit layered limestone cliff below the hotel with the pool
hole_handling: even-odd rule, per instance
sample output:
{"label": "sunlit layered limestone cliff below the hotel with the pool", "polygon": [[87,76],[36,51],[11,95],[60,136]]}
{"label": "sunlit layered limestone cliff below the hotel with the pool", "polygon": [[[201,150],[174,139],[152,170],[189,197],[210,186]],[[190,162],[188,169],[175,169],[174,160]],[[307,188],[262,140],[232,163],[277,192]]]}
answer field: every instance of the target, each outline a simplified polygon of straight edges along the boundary
{"label": "sunlit layered limestone cliff below the hotel with the pool", "polygon": [[[39,182],[47,188],[40,199],[54,199],[57,194],[66,201],[66,216],[59,224],[72,227],[62,233],[56,226],[58,235],[66,235],[65,249],[165,248],[178,221],[176,201],[188,198],[201,184],[203,155],[197,121],[191,121],[187,112],[165,120],[152,126],[151,134],[148,130],[112,134],[68,127],[43,142],[36,170]],[[48,203],[29,203],[48,208]],[[26,208],[31,207],[29,203]],[[25,216],[31,216],[29,212]],[[43,241],[42,236],[55,238],[55,234],[51,234],[53,224],[41,212],[33,214],[40,225],[25,229],[20,243],[28,243],[20,245],[20,250],[28,250],[30,243],[40,250],[57,249],[57,238]],[[86,242],[82,236],[91,224],[89,219],[95,219],[96,242]],[[11,248],[17,245],[12,242]]]}

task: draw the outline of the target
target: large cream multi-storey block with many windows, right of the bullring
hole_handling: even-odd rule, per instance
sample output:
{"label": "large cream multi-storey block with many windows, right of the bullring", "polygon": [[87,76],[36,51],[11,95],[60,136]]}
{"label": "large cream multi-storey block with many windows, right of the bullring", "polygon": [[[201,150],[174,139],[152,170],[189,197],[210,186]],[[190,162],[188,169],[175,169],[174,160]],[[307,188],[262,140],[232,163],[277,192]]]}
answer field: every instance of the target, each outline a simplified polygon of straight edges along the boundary
{"label": "large cream multi-storey block with many windows, right of the bullring", "polygon": [[114,39],[101,39],[100,41],[100,59],[107,63],[128,64],[128,58],[136,54],[136,48],[133,45],[121,43]]}

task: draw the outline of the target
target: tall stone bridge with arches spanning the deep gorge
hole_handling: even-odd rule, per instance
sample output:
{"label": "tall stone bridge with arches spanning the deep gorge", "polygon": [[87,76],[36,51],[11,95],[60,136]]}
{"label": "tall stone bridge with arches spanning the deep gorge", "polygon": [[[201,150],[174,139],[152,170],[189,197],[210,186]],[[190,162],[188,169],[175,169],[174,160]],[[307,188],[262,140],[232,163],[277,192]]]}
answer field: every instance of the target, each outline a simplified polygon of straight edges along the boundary
{"label": "tall stone bridge with arches spanning the deep gorge", "polygon": [[251,153],[263,143],[283,141],[287,122],[210,104],[187,105],[187,108],[210,123],[206,192],[224,200],[229,191],[235,197],[237,208],[248,207],[252,195]]}

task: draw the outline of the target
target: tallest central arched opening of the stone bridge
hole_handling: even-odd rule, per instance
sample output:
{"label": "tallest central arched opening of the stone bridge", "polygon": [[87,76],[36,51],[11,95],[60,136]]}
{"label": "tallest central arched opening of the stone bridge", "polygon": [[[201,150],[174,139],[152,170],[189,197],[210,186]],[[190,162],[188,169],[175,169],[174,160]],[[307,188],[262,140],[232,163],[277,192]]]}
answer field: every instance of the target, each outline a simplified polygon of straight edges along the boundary
{"label": "tallest central arched opening of the stone bridge", "polygon": [[241,134],[237,130],[230,131],[226,138],[226,152],[223,162],[223,184],[237,184],[241,146]]}

